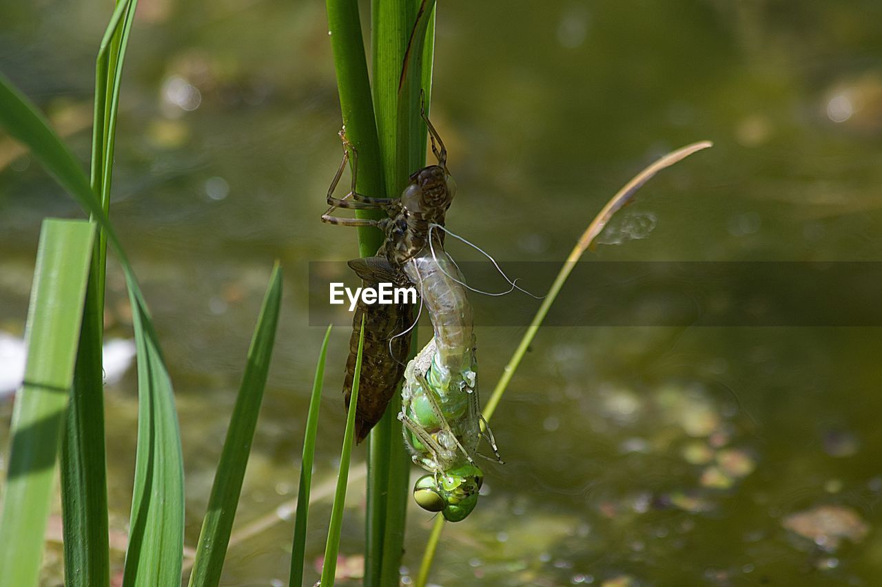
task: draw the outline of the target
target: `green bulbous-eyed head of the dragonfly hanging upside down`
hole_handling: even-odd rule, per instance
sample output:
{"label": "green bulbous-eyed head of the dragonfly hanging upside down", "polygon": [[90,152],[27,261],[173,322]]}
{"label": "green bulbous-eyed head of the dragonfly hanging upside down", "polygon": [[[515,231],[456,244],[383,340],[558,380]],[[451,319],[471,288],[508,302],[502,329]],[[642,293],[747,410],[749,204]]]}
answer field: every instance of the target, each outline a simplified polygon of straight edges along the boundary
{"label": "green bulbous-eyed head of the dragonfly hanging upside down", "polygon": [[448,522],[466,519],[478,502],[484,474],[474,464],[462,464],[451,471],[423,475],[414,486],[414,501],[422,509],[439,511]]}

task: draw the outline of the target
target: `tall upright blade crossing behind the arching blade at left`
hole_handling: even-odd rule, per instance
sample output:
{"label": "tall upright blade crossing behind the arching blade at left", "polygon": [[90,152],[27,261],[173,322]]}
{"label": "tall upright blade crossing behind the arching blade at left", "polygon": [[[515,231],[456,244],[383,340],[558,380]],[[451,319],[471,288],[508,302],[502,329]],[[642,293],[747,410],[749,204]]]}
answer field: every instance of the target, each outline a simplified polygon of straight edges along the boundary
{"label": "tall upright blade crossing behind the arching blade at left", "polygon": [[[116,5],[95,59],[90,184],[99,195],[104,212],[108,212],[110,204],[116,105],[123,56],[134,14],[134,0],[123,0]],[[77,368],[62,442],[64,578],[72,587],[106,587],[110,582],[101,360],[106,257],[107,236],[99,231],[93,249]]]}

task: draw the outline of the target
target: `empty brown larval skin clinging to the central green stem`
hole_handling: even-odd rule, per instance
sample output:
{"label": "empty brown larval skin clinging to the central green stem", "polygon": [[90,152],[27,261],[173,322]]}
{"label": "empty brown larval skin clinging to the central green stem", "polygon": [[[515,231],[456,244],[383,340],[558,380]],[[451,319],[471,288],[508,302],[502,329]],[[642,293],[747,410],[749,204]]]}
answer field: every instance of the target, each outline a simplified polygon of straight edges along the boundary
{"label": "empty brown larval skin clinging to the central green stem", "polygon": [[[322,221],[347,227],[377,227],[385,234],[385,240],[377,250],[377,256],[354,259],[349,262],[365,285],[382,281],[396,285],[410,285],[403,271],[408,260],[425,249],[433,226],[444,226],[445,213],[450,207],[456,184],[447,170],[447,152],[441,137],[430,123],[421,108],[431,137],[432,152],[437,165],[423,167],[410,176],[407,188],[397,197],[368,197],[355,190],[358,173],[358,152],[355,151],[345,134],[340,131],[343,142],[343,160],[328,189],[327,203],[331,206],[322,215]],[[352,157],[352,186],[349,193],[341,198],[333,196],[340,177]],[[331,216],[336,208],[355,210],[381,209],[386,212],[385,219],[354,219]],[[410,347],[409,326],[413,320],[413,308],[407,304],[367,305],[359,302],[356,309],[353,333],[349,340],[347,374],[343,383],[343,394],[347,409],[352,394],[355,372],[355,353],[358,348],[358,335],[362,316],[365,320],[365,341],[362,382],[355,406],[356,440],[362,442],[370,429],[383,417],[386,405],[392,399],[395,389],[404,372],[403,360]]]}

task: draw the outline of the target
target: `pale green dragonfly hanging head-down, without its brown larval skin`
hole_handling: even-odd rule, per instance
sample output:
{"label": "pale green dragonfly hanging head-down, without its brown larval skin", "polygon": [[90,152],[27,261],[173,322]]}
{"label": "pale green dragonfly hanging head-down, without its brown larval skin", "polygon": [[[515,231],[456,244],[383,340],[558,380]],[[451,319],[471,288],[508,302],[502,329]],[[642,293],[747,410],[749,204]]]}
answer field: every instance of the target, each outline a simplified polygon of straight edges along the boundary
{"label": "pale green dragonfly hanging head-down, without its brown larval skin", "polygon": [[[430,473],[417,480],[415,501],[459,522],[475,509],[483,482],[474,460],[482,416],[472,307],[459,268],[443,249],[438,254],[439,246],[433,242],[404,268],[420,288],[435,336],[407,364],[398,418],[414,463]],[[502,463],[490,429],[485,429]]]}

